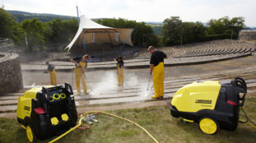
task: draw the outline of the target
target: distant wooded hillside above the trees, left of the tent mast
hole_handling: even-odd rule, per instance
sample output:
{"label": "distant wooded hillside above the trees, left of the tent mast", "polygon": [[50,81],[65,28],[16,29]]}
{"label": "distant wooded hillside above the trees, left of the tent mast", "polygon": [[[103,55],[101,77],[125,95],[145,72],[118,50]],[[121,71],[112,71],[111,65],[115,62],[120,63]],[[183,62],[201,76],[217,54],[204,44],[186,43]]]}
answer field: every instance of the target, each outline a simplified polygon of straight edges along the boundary
{"label": "distant wooded hillside above the trees, left of the tent mast", "polygon": [[61,18],[62,20],[70,20],[72,16],[66,16],[66,15],[54,15],[54,14],[47,14],[47,13],[27,13],[23,11],[17,11],[17,10],[7,10],[8,13],[13,15],[13,17],[16,18],[16,20],[21,23],[25,19],[33,19],[37,18],[39,21],[42,22],[47,22],[47,21],[52,21],[53,19],[56,18]]}

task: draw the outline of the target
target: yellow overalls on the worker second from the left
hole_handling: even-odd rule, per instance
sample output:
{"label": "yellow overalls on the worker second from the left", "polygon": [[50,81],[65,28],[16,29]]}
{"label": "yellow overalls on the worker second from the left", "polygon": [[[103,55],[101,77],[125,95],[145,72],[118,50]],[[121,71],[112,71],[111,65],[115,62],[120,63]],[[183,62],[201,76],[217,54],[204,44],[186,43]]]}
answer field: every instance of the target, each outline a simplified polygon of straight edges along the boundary
{"label": "yellow overalls on the worker second from the left", "polygon": [[[82,69],[85,69],[86,63],[80,61],[79,65],[81,66]],[[84,89],[84,92],[88,94],[87,91],[87,86],[85,82],[85,75],[82,74],[82,70],[79,67],[75,68],[75,77],[76,77],[76,90],[78,94],[81,94],[81,89],[80,89],[80,79],[82,81],[82,88]]]}

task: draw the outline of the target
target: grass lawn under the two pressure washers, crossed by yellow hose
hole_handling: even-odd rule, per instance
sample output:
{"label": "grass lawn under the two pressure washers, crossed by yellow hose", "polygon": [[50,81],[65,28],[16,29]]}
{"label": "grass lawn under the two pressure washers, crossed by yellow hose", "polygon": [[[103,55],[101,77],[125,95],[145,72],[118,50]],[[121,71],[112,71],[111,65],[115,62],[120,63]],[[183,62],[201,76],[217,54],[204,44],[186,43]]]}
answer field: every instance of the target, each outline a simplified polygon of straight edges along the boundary
{"label": "grass lawn under the two pressure washers, crossed by yellow hose", "polygon": [[[256,122],[256,93],[249,94],[243,109]],[[170,115],[168,106],[108,111],[137,122],[148,130],[158,142],[256,142],[256,129],[239,123],[237,130],[218,130],[214,135],[200,131],[195,123],[183,123]],[[241,114],[242,112],[240,112]],[[88,130],[73,131],[57,142],[153,142],[137,126],[104,114],[97,115],[99,123]],[[242,119],[242,116],[241,116]],[[53,137],[52,139],[54,139]],[[37,142],[50,142],[52,139]],[[16,119],[0,118],[0,142],[28,142],[25,130]]]}

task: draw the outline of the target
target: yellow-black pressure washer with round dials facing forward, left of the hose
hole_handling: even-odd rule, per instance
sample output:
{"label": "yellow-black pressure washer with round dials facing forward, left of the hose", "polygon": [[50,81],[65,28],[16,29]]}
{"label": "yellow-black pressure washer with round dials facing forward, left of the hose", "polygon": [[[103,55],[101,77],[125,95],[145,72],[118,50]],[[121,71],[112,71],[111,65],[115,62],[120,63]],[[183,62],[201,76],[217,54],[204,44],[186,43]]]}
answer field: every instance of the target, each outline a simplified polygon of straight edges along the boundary
{"label": "yellow-black pressure washer with round dials facing forward, left of the hose", "polygon": [[77,111],[73,90],[65,86],[31,88],[19,97],[17,119],[26,129],[27,139],[50,139],[76,126]]}

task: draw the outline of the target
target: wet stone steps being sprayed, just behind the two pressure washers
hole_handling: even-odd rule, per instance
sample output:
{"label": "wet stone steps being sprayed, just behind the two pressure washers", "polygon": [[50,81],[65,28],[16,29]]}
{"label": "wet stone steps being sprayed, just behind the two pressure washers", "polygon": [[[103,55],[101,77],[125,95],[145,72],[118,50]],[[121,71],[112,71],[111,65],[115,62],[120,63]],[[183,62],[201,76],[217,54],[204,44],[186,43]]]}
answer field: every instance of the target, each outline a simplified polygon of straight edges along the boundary
{"label": "wet stone steps being sprayed, just behind the two pressure washers", "polygon": [[[237,70],[238,71],[238,70]],[[256,91],[256,67],[243,69],[243,71],[234,71],[232,73],[220,73],[215,75],[209,75],[203,78],[191,78],[183,80],[165,80],[165,95],[163,100],[151,99],[151,95],[154,94],[152,84],[149,86],[149,90],[146,90],[148,85],[140,84],[132,87],[125,86],[124,88],[111,87],[101,88],[97,90],[97,83],[91,84],[90,95],[77,95],[75,92],[75,100],[77,110],[79,112],[92,111],[92,110],[114,110],[120,108],[143,108],[152,105],[168,105],[171,97],[174,96],[175,92],[185,86],[188,83],[197,80],[220,80],[230,81],[233,80],[233,74],[238,77],[243,77],[246,80],[248,92]],[[4,97],[0,97],[0,117],[8,116],[15,117],[16,104],[18,102],[19,95],[22,95],[28,88],[24,88],[16,93],[6,94]],[[90,90],[89,90],[90,91]],[[165,101],[166,100],[166,101]],[[167,102],[167,103],[166,103]],[[117,105],[116,105],[117,104]],[[102,107],[93,107],[102,106]]]}

